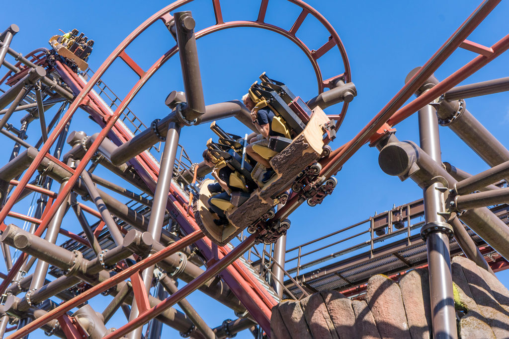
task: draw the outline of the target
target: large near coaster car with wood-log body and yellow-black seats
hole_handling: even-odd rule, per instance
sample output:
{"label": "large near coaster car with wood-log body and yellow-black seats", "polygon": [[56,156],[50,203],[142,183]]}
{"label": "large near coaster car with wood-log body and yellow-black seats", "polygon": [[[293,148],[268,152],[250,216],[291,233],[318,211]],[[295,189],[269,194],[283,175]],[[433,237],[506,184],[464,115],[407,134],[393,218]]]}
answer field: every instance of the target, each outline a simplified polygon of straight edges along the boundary
{"label": "large near coaster car with wood-log body and yellow-black seats", "polygon": [[[212,123],[211,129],[219,136],[219,142],[210,139],[207,147],[216,158],[216,169],[228,166],[233,171],[230,186],[241,189],[231,193],[230,201],[214,199],[207,187],[214,180],[202,183],[199,199],[194,204],[195,220],[202,231],[218,245],[225,245],[245,228],[254,232],[259,223],[274,225],[278,236],[285,234],[289,222],[271,221],[274,217],[273,207],[284,203],[288,198],[286,192],[294,180],[297,176],[306,175],[303,171],[316,163],[326,147],[323,136],[330,130],[331,121],[323,110],[319,107],[310,110],[285,84],[269,79],[265,73],[260,79],[262,83],[254,83],[249,94],[258,108],[269,106],[276,115],[272,121],[273,130],[278,128],[278,132],[284,131],[282,134],[287,138],[271,137],[269,147],[253,147],[253,150],[269,160],[275,171],[268,182],[262,183],[261,176],[265,168],[261,164],[253,168],[246,159],[246,138],[225,133],[215,122]],[[278,125],[276,128],[275,124]],[[210,202],[224,211],[228,225],[217,226],[213,222],[215,214],[209,210],[211,197]],[[268,234],[266,239],[274,242],[277,236]]]}

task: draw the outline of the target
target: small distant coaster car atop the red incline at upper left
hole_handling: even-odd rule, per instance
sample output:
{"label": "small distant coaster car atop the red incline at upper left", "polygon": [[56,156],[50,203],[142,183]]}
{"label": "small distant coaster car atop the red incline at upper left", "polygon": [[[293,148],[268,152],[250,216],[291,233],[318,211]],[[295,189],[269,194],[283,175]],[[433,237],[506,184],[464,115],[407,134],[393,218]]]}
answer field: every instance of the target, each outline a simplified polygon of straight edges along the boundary
{"label": "small distant coaster car atop the red incline at upper left", "polygon": [[78,35],[77,29],[73,29],[62,36],[55,35],[51,37],[49,44],[56,54],[65,58],[69,63],[76,65],[81,71],[89,68],[87,60],[92,52],[94,40],[87,40],[83,33]]}

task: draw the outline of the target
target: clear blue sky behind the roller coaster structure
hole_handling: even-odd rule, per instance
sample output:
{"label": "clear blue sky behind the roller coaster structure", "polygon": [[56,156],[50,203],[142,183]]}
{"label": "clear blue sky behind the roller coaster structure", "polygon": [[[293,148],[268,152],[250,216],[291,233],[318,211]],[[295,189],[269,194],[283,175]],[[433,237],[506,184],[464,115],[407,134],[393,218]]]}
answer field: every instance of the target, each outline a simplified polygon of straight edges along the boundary
{"label": "clear blue sky behind the roller coaster structure", "polygon": [[[380,111],[403,86],[408,72],[425,63],[480,1],[314,0],[309,3],[331,22],[343,40],[350,59],[352,79],[358,90],[358,96],[351,103],[333,143],[337,147],[355,136]],[[185,7],[192,11],[197,28],[214,23],[211,4],[210,0],[196,0]],[[0,23],[3,26],[18,24],[20,33],[14,38],[12,46],[23,53],[48,47],[47,40],[58,34],[58,28],[66,32],[77,28],[96,41],[89,60],[91,68],[95,70],[135,27],[166,5],[161,1],[49,1],[30,2],[21,10],[19,3],[7,2],[0,12]],[[260,0],[223,0],[223,18],[225,21],[255,20],[259,5]],[[508,12],[509,3],[502,2],[468,39],[486,46],[501,39],[509,28],[506,19]],[[270,0],[266,21],[290,28],[299,13],[300,10],[286,1]],[[0,30],[3,29],[0,27]],[[298,37],[314,49],[327,39],[324,30],[313,20],[304,22]],[[158,22],[142,34],[141,39],[127,52],[146,70],[174,44],[173,38]],[[276,34],[254,28],[231,29],[200,39],[197,47],[207,104],[240,98],[264,71],[271,78],[284,81],[296,95],[304,99],[317,94],[316,80],[307,58],[291,42]],[[472,52],[456,51],[435,73],[436,77],[445,78],[473,57],[475,54]],[[326,77],[343,72],[337,52],[328,53],[320,61]],[[507,64],[508,57],[504,54],[464,83],[507,76]],[[0,73],[3,70],[0,69]],[[135,75],[122,61],[117,61],[104,77],[108,86],[119,95],[125,95],[135,80]],[[168,61],[151,79],[130,108],[149,124],[153,119],[169,113],[164,106],[164,98],[175,89],[183,90],[178,57]],[[502,93],[467,100],[470,112],[504,145],[509,145],[506,133],[509,124],[508,99],[509,96]],[[341,105],[337,105],[327,109],[327,112],[337,113],[340,109]],[[237,134],[245,133],[245,129],[233,120],[220,122],[220,126]],[[418,141],[416,116],[402,122],[397,129],[400,140]],[[86,114],[81,114],[74,120],[71,130],[84,130],[90,135],[97,131],[97,127],[88,122]],[[488,168],[449,130],[441,128],[440,133],[443,161],[471,173]],[[208,126],[187,128],[182,132],[181,143],[192,159],[199,162],[205,142],[210,137],[213,135]],[[32,142],[31,139],[29,141]],[[0,150],[2,159],[8,159],[10,147]],[[420,189],[412,181],[401,182],[397,177],[384,174],[378,166],[377,150],[368,146],[364,146],[336,177],[338,186],[322,205],[314,208],[302,205],[292,214],[289,247],[364,220],[375,211],[392,208],[393,204],[401,205],[421,197]],[[53,190],[56,189],[54,186]],[[77,226],[69,226],[69,229],[79,231]],[[332,251],[337,250],[339,248]],[[499,277],[506,286],[509,285],[507,274],[502,273]],[[221,305],[210,302],[199,293],[189,299],[212,327],[225,318],[235,319],[233,312],[223,310]],[[98,310],[102,310],[101,305]],[[118,327],[124,324],[124,320],[119,313],[108,325]],[[174,332],[165,327],[164,333]],[[250,334],[240,333],[237,337],[247,338]]]}

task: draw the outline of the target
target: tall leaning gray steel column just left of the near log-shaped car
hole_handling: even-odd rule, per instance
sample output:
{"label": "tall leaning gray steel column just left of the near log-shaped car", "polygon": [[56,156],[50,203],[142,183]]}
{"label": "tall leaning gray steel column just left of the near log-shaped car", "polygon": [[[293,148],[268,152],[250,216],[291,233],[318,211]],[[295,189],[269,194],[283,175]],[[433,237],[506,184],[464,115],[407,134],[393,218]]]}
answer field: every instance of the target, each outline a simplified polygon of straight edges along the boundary
{"label": "tall leaning gray steel column just left of the near log-shaped car", "polygon": [[[154,200],[150,212],[150,221],[147,231],[152,235],[155,241],[161,238],[162,226],[164,221],[164,213],[166,212],[166,203],[168,201],[169,186],[172,183],[173,168],[175,165],[175,156],[177,155],[177,146],[179,144],[180,126],[175,122],[169,124],[164,150],[161,157],[159,177],[157,178]],[[143,282],[147,292],[150,291],[154,267],[145,269],[142,273]],[[133,303],[129,321],[138,316],[138,307]],[[130,339],[139,339],[142,335],[142,327],[138,327],[128,334]]]}

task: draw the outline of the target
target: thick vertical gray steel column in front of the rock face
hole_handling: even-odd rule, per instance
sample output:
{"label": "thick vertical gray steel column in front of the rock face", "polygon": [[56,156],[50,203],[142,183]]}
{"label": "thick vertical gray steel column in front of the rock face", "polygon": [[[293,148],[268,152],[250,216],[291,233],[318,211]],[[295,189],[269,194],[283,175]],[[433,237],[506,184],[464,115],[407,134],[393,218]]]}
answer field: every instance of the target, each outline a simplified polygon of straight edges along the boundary
{"label": "thick vertical gray steel column in front of the rock face", "polygon": [[[441,164],[438,118],[432,106],[428,105],[418,112],[420,147]],[[396,161],[396,159],[394,159]],[[447,188],[440,180],[434,180],[423,188],[426,230],[430,225],[446,225],[442,216],[445,212],[443,192]],[[428,248],[430,277],[431,313],[433,337],[456,338],[456,311],[454,309],[453,278],[450,269],[449,237],[446,232],[432,230],[425,233]]]}

